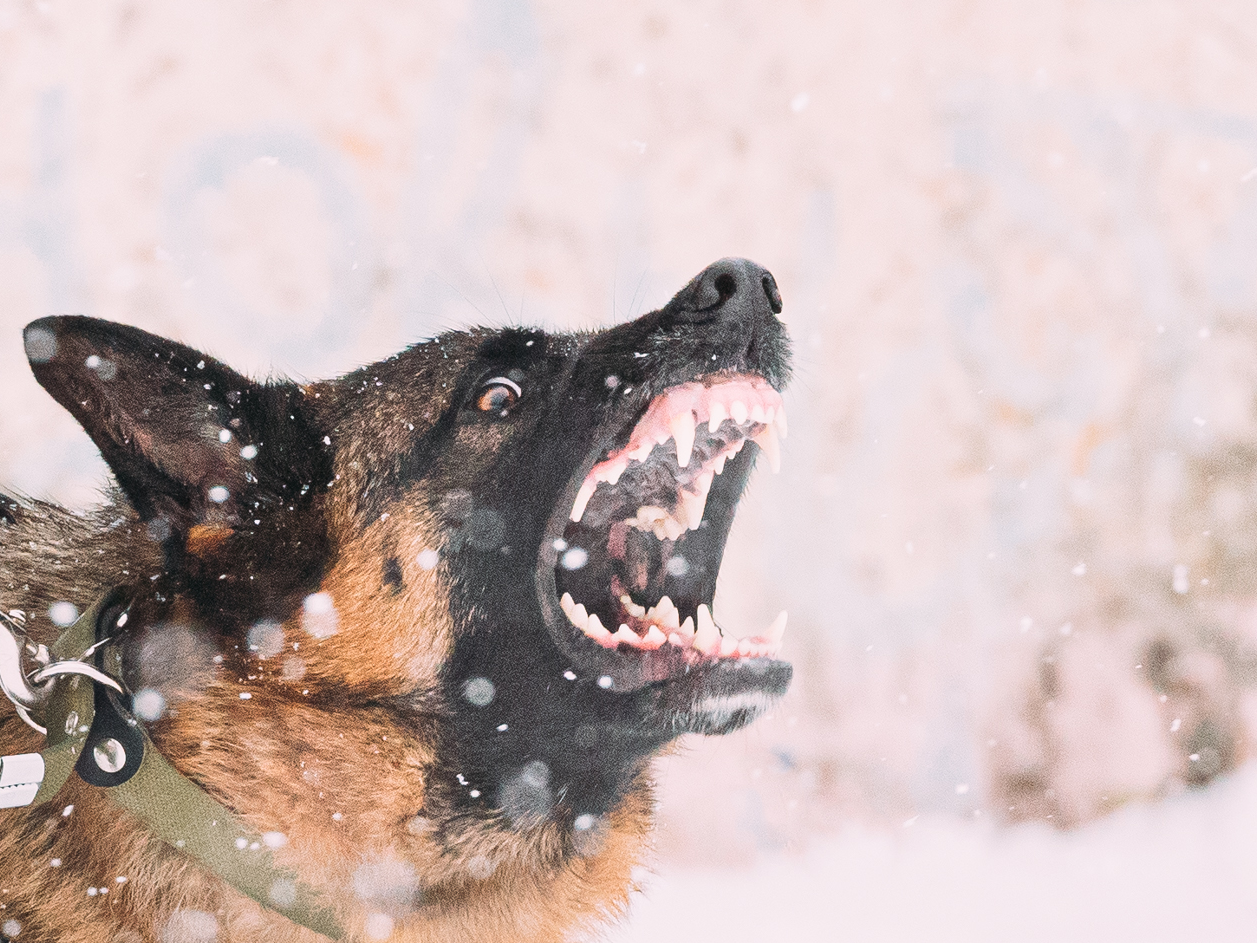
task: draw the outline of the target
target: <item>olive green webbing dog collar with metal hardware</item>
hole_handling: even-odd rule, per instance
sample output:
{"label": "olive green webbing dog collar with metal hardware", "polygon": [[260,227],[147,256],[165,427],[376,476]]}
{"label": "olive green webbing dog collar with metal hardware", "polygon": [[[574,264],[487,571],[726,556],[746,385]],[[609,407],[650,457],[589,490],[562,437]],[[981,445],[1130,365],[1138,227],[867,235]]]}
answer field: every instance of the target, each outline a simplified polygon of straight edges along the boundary
{"label": "olive green webbing dog collar with metal hardware", "polygon": [[0,808],[53,800],[77,773],[136,816],[167,845],[199,861],[261,907],[331,939],[342,939],[331,909],[313,888],[279,868],[266,836],[180,773],[131,713],[122,651],[112,632],[126,625],[122,587],[102,596],[50,649],[35,649],[40,668],[23,670],[23,642],[0,620],[0,690],[19,715],[43,731],[39,753],[0,757]]}

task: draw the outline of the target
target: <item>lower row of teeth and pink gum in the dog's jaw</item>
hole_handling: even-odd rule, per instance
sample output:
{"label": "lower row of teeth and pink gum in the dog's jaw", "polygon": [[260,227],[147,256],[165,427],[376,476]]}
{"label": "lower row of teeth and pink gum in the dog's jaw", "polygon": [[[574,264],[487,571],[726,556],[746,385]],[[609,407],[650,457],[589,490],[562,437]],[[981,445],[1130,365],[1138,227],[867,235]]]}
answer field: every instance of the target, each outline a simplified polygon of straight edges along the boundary
{"label": "lower row of teeth and pink gum in the dog's jaw", "polygon": [[569,592],[563,593],[559,606],[572,625],[608,649],[625,644],[635,649],[654,650],[671,644],[680,649],[693,649],[709,658],[762,658],[781,651],[782,636],[786,634],[784,610],[763,635],[754,639],[732,639],[720,631],[711,610],[705,605],[698,607],[698,625],[695,625],[695,620],[690,616],[686,616],[684,622],[680,621],[681,614],[667,596],[650,609],[639,606],[630,596],[621,596],[620,602],[634,619],[650,624],[646,635],[637,635],[625,622],[612,632],[602,625],[596,612],[586,610]]}

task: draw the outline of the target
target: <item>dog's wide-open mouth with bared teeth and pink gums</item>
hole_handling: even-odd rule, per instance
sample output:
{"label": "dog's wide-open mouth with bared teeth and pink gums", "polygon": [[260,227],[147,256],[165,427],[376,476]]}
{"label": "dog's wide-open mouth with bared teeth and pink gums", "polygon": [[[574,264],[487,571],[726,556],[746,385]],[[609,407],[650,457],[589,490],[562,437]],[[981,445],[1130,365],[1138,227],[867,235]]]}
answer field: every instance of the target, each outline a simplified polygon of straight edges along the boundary
{"label": "dog's wide-open mouth with bared teeth and pink gums", "polygon": [[593,464],[553,538],[556,595],[579,637],[649,664],[642,680],[774,656],[784,612],[735,639],[711,600],[752,456],[776,470],[784,434],[781,396],[755,375],[713,373],[655,397]]}

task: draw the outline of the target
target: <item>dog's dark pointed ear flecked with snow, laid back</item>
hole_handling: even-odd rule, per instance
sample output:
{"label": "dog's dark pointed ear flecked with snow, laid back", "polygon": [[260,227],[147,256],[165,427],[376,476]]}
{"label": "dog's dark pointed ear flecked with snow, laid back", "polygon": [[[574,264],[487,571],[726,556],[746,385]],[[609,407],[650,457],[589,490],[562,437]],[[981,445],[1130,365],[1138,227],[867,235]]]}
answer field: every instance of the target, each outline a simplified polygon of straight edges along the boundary
{"label": "dog's dark pointed ear flecked with snow, laid back", "polygon": [[251,523],[331,477],[293,383],[255,383],[191,347],[97,318],[41,318],[25,342],[35,378],[92,436],[140,516],[172,533]]}

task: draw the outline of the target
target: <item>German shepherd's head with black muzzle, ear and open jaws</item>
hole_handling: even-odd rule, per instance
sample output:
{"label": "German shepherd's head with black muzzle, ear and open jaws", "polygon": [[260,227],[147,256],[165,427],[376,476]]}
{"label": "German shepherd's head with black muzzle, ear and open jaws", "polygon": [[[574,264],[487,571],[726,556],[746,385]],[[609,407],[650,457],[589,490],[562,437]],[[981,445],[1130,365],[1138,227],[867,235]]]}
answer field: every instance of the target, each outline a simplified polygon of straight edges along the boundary
{"label": "German shepherd's head with black muzzle, ear and open jaws", "polygon": [[779,311],[771,274],[723,260],[612,329],[454,332],[304,386],[30,324],[36,377],[162,551],[118,575],[127,680],[173,708],[158,743],[195,767],[206,702],[368,705],[429,757],[425,807],[581,829],[678,734],[752,720],[789,683],[782,625],[725,637],[711,601],[784,433]]}

